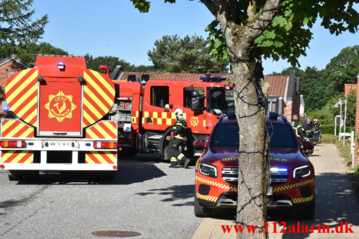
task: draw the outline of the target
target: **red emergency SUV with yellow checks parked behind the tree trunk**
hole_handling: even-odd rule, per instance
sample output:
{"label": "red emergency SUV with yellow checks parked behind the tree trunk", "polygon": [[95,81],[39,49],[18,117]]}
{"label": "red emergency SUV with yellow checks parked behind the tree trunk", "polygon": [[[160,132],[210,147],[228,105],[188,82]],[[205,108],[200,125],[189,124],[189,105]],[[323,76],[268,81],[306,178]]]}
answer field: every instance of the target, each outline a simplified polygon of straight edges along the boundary
{"label": "red emergency SUV with yellow checks parked behind the tree trunk", "polygon": [[[228,115],[219,118],[196,163],[197,217],[208,217],[211,208],[237,207],[239,127],[234,112]],[[267,208],[292,208],[298,218],[311,219],[315,205],[314,167],[284,115],[271,112],[266,126],[271,136]],[[204,142],[195,141],[194,145],[201,147]]]}

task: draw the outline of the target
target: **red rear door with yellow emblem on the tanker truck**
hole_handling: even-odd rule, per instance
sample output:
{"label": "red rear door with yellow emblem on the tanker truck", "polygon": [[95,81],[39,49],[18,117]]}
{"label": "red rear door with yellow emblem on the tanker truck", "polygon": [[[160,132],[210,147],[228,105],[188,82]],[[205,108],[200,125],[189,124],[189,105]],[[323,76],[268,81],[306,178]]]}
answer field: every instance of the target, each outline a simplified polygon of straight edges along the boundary
{"label": "red rear door with yellow emblem on the tanker truck", "polygon": [[44,77],[39,82],[37,134],[82,136],[82,96],[77,78]]}

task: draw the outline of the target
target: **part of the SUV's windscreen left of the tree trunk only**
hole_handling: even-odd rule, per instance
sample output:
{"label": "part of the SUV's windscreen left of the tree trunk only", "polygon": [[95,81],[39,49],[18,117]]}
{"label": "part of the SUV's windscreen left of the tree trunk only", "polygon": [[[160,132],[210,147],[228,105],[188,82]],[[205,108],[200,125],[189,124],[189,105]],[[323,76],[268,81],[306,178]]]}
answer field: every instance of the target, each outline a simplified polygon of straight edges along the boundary
{"label": "part of the SUV's windscreen left of the tree trunk only", "polygon": [[211,141],[212,147],[218,146],[238,146],[239,147],[239,127],[237,123],[220,124]]}

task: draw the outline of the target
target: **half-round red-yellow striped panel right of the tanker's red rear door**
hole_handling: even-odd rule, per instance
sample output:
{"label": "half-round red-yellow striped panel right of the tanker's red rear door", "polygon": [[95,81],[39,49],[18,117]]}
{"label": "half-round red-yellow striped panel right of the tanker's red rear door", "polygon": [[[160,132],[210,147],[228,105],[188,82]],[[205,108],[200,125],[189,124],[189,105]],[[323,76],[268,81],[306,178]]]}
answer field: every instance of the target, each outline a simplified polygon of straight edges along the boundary
{"label": "half-round red-yellow striped panel right of the tanker's red rear door", "polygon": [[103,78],[97,71],[85,70],[84,79],[84,123],[92,125],[107,114],[114,103],[115,86],[110,79]]}

